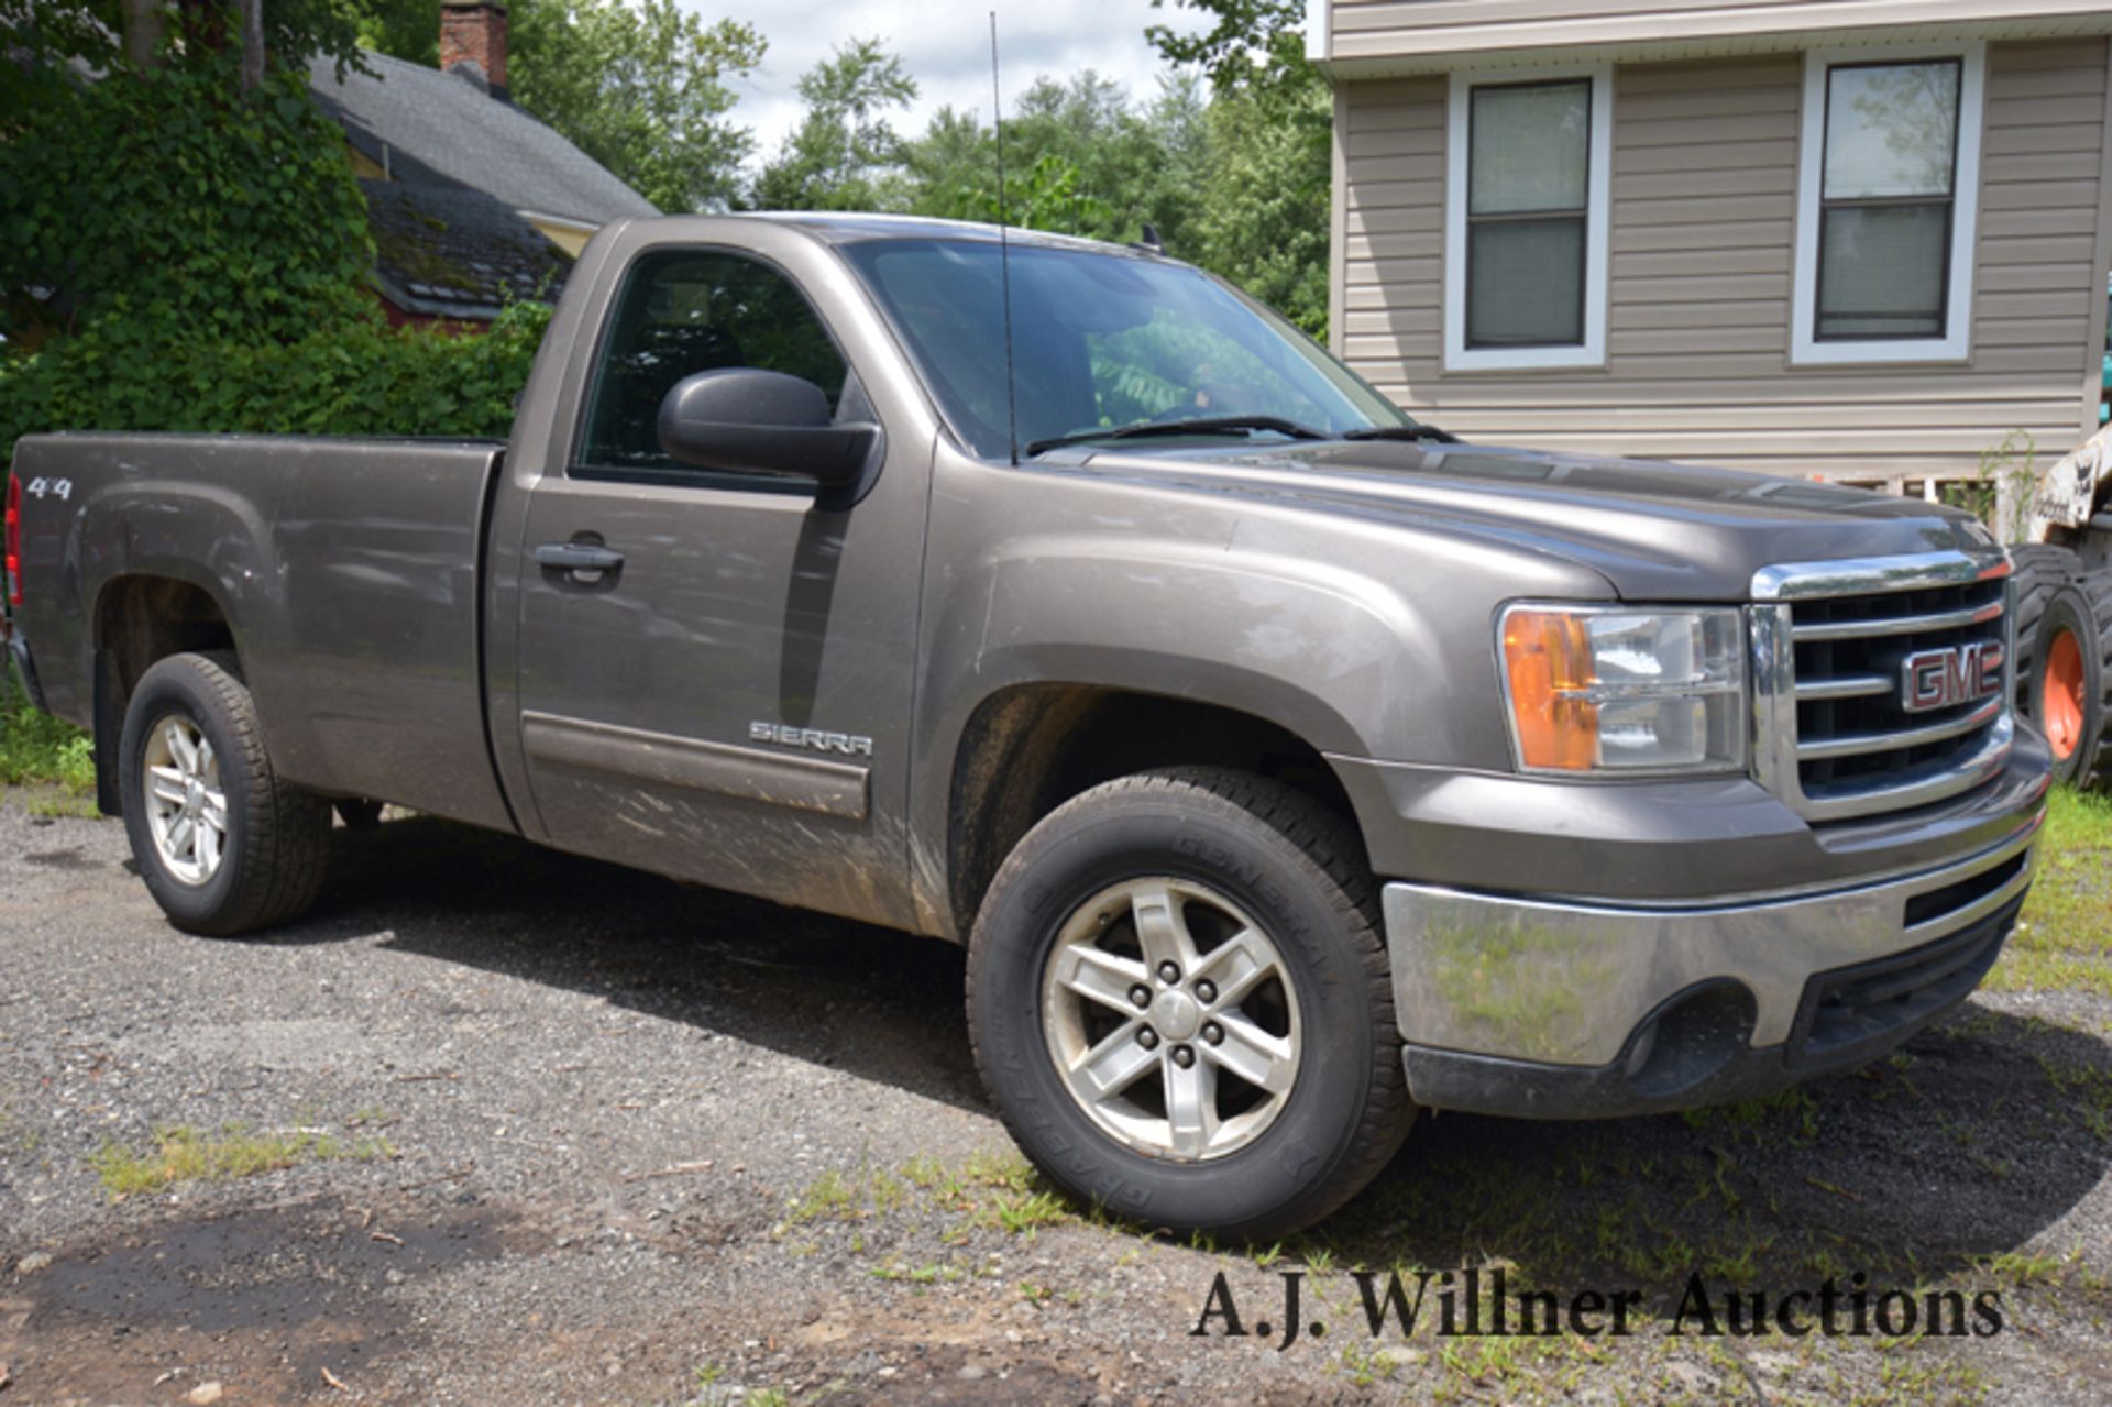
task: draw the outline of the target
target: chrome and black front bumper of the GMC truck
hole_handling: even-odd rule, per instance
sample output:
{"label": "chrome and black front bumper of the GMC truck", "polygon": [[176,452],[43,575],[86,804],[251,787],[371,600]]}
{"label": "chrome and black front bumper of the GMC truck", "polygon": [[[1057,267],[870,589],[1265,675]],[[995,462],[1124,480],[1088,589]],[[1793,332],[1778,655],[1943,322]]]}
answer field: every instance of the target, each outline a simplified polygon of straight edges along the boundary
{"label": "chrome and black front bumper of the GMC truck", "polygon": [[1869,1061],[1979,984],[2032,881],[2042,792],[1996,843],[1863,885],[1620,906],[1390,883],[1409,1090],[1605,1118]]}

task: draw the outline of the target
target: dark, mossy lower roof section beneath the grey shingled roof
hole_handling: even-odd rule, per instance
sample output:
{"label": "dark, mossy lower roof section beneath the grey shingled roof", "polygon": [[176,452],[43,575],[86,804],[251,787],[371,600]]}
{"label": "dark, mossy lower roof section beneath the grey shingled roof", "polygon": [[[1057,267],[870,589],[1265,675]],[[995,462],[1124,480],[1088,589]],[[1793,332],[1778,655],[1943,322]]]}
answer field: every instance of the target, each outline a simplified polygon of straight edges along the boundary
{"label": "dark, mossy lower roof section beneath the grey shingled roof", "polygon": [[572,268],[543,232],[467,186],[359,182],[376,281],[406,313],[488,321],[511,300],[555,298]]}

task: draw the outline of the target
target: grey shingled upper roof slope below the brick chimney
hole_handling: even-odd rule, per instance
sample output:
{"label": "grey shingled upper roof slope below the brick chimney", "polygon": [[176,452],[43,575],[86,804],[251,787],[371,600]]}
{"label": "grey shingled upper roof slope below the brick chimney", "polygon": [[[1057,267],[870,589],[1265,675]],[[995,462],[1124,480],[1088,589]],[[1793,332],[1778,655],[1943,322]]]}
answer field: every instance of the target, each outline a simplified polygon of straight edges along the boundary
{"label": "grey shingled upper roof slope below the brick chimney", "polygon": [[[659,213],[482,76],[363,55],[372,74],[310,59],[308,87],[367,158],[406,186],[482,190],[513,211],[606,224]],[[372,192],[370,192],[372,194]]]}

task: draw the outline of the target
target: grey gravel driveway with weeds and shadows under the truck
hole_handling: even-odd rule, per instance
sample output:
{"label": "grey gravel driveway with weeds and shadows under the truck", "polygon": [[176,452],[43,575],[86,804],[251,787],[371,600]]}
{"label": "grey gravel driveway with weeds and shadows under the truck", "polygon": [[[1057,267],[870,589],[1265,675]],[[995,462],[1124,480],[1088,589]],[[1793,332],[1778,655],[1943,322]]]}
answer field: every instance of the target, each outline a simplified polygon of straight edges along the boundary
{"label": "grey gravel driveway with weeds and shadows under the truck", "polygon": [[[1977,997],[1734,1111],[1426,1118],[1307,1238],[1219,1249],[1031,1177],[948,946],[429,820],[336,845],[310,919],[209,942],[161,921],[120,826],[0,807],[0,1407],[2036,1407],[2112,1382],[2099,995]],[[218,1177],[163,1185],[186,1158]],[[1569,1308],[1639,1291],[1633,1333],[1445,1335],[1470,1268]],[[1415,1333],[1373,1337],[1366,1289],[1383,1310],[1417,1270]],[[1827,1280],[2000,1331],[1681,1318],[1694,1284],[1772,1316]],[[1290,1282],[1305,1331],[1263,1339]]]}

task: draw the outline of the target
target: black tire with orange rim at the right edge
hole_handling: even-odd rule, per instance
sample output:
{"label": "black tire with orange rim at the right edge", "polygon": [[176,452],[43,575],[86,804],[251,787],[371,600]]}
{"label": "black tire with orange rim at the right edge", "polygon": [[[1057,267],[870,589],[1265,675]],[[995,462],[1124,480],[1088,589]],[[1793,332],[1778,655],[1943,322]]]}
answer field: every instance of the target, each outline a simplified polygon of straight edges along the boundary
{"label": "black tire with orange rim at the right edge", "polygon": [[2055,782],[2085,782],[2104,739],[2104,632],[2066,547],[2013,547],[2017,701],[2047,735]]}

